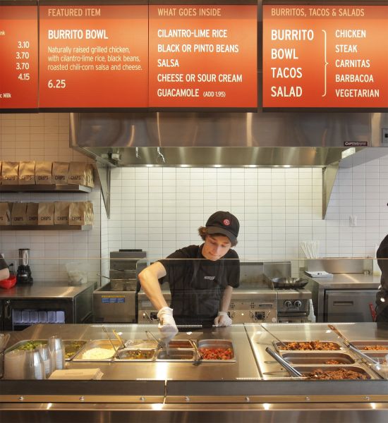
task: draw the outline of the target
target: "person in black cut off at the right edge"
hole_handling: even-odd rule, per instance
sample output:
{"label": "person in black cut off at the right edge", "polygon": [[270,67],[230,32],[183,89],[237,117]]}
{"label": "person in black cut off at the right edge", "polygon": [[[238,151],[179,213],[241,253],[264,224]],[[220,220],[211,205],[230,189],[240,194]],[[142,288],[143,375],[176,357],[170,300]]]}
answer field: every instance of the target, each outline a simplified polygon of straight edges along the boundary
{"label": "person in black cut off at the right edge", "polygon": [[376,295],[376,321],[388,323],[388,235],[378,247],[376,257],[381,269],[381,284]]}

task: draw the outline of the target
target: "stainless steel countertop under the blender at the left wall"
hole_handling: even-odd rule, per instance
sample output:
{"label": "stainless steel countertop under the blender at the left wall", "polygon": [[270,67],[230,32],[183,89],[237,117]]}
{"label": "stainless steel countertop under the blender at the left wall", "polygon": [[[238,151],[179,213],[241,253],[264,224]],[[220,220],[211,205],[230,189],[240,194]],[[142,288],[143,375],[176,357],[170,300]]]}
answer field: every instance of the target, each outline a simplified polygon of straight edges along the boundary
{"label": "stainless steel countertop under the blender at the left wall", "polygon": [[0,288],[0,300],[45,300],[45,299],[72,299],[82,293],[94,282],[80,286],[47,285],[47,282],[34,282],[32,285],[17,285],[10,289]]}

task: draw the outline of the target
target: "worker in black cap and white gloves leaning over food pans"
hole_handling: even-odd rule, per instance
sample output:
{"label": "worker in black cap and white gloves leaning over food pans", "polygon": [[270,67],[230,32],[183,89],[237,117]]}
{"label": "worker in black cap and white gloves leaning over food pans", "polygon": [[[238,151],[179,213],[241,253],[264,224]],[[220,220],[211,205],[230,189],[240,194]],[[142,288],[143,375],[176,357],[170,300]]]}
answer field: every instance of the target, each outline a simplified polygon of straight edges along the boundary
{"label": "worker in black cap and white gloves leaning over food pans", "polygon": [[[198,228],[204,243],[176,250],[154,262],[139,274],[141,286],[158,310],[163,338],[173,338],[178,325],[230,326],[231,293],[240,279],[236,251],[240,223],[229,212],[216,212]],[[169,282],[171,305],[167,305],[160,284]],[[173,314],[174,312],[174,314]]]}

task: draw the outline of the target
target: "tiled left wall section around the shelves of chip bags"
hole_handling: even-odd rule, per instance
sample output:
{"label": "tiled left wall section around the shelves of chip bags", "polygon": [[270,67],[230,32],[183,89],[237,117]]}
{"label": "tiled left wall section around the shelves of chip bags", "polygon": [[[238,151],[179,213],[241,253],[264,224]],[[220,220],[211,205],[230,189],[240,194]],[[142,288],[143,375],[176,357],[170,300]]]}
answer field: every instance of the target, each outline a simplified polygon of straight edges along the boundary
{"label": "tiled left wall section around the shelves of chip bags", "polygon": [[[69,147],[68,114],[0,114],[0,160],[87,161]],[[0,252],[15,262],[19,248],[30,248],[35,281],[66,281],[66,262],[87,262],[97,278],[100,257],[99,188],[90,194],[7,193],[0,201],[93,203],[95,225],[90,231],[0,231]],[[106,234],[106,233],[105,233]]]}

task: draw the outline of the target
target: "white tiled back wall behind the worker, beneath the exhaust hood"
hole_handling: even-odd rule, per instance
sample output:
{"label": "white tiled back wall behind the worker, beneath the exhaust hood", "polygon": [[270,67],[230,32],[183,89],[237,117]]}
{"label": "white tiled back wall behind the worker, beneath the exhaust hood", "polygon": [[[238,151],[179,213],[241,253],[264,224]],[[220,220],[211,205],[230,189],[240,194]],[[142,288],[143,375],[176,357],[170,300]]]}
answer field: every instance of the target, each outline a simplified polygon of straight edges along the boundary
{"label": "white tiled back wall behind the worker, beneath the exhaust hood", "polygon": [[109,250],[165,257],[200,243],[198,227],[229,210],[241,222],[236,251],[243,260],[298,259],[304,240],[318,240],[322,257],[374,257],[388,233],[385,154],[365,149],[353,167],[340,168],[325,220],[321,168],[116,168]]}

